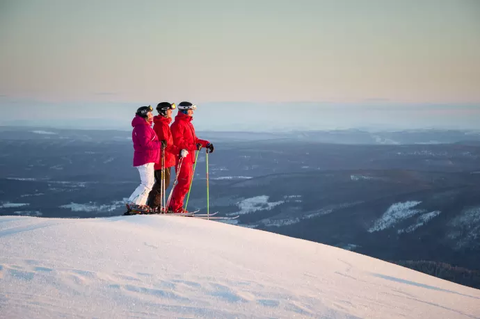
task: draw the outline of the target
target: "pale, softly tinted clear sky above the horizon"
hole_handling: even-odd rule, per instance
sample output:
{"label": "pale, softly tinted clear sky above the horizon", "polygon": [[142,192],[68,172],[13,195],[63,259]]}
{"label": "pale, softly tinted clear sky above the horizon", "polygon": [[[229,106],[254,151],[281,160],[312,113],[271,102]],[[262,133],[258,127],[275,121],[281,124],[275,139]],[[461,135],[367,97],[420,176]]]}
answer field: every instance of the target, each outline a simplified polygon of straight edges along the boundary
{"label": "pale, softly tinted clear sky above the horizon", "polygon": [[226,125],[222,103],[309,105],[310,115],[382,105],[378,121],[392,124],[385,110],[437,105],[463,110],[447,124],[480,128],[477,0],[0,0],[0,47],[0,125],[41,105],[56,111],[40,118],[78,105],[119,105],[130,117],[188,100]]}

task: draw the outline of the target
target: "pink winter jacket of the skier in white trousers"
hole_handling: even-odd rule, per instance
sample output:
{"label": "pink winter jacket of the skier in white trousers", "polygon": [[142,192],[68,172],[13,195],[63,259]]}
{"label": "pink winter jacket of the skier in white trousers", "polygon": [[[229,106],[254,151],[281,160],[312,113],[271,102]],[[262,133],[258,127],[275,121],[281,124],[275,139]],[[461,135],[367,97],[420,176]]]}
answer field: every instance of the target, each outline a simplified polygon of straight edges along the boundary
{"label": "pink winter jacket of the skier in white trousers", "polygon": [[151,125],[138,115],[132,120],[133,166],[160,161],[161,144]]}

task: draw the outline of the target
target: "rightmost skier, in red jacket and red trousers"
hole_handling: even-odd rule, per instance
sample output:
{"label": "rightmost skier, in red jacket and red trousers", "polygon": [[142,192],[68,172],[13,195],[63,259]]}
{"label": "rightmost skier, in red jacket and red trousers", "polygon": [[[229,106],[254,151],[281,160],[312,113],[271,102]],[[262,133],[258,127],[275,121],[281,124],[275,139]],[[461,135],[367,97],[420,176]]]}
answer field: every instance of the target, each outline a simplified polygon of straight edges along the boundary
{"label": "rightmost skier, in red jacket and red trousers", "polygon": [[181,102],[178,105],[178,114],[175,117],[175,122],[171,126],[173,143],[180,150],[177,164],[180,158],[183,158],[180,172],[177,171],[177,185],[174,186],[170,206],[168,207],[168,210],[174,213],[184,212],[183,200],[193,178],[195,151],[200,150],[202,147],[205,147],[209,153],[213,153],[214,150],[212,143],[201,140],[195,135],[192,120],[193,111],[196,108],[197,106],[190,102]]}

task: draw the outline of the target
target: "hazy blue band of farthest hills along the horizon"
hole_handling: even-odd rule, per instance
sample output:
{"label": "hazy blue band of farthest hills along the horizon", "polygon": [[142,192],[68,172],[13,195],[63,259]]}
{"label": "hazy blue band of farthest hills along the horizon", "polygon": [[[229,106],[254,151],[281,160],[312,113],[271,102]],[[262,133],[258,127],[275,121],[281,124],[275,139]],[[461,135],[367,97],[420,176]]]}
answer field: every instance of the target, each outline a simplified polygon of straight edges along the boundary
{"label": "hazy blue band of farthest hills along the horizon", "polygon": [[[108,140],[126,141],[130,139],[130,128],[125,130],[98,129],[58,129],[29,126],[0,126],[2,139],[76,139],[76,140]],[[276,131],[276,132],[243,132],[243,131],[198,131],[199,136],[222,142],[300,140],[316,143],[333,144],[367,144],[367,145],[406,145],[406,144],[451,144],[480,143],[480,130],[325,130],[325,131]]]}

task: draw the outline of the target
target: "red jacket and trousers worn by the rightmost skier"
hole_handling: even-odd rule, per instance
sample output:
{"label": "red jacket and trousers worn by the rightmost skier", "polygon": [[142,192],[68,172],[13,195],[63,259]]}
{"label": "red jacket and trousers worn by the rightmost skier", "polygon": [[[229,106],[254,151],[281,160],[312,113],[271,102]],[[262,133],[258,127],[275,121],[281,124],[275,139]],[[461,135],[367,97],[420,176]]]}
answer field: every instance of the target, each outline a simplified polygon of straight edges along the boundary
{"label": "red jacket and trousers worn by the rightmost skier", "polygon": [[[170,130],[173,135],[173,143],[179,149],[186,149],[188,155],[183,159],[180,174],[177,171],[178,182],[173,189],[169,210],[181,212],[183,210],[183,200],[190,188],[193,177],[193,164],[195,163],[195,151],[197,144],[206,147],[209,144],[206,140],[201,140],[195,135],[195,129],[192,124],[193,117],[178,112]],[[178,163],[178,157],[177,157]],[[176,166],[177,167],[177,166]]]}

